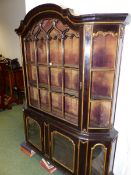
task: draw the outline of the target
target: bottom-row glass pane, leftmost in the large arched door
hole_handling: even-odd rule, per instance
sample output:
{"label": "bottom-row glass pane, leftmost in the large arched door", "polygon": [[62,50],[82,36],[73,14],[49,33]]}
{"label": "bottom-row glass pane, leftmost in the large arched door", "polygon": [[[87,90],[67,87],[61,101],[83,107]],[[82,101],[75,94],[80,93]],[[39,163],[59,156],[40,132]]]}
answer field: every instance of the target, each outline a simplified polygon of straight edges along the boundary
{"label": "bottom-row glass pane, leftmost in the large arched door", "polygon": [[29,88],[29,98],[30,104],[32,106],[38,107],[38,89],[35,87]]}

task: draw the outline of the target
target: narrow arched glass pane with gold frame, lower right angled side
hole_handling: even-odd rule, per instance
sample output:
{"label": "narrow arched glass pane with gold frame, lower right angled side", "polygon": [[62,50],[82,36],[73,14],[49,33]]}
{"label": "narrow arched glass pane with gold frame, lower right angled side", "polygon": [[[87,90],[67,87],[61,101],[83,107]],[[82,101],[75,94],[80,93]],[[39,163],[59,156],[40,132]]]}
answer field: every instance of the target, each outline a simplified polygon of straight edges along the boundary
{"label": "narrow arched glass pane with gold frame, lower right angled side", "polygon": [[105,151],[102,146],[92,149],[91,175],[104,175]]}

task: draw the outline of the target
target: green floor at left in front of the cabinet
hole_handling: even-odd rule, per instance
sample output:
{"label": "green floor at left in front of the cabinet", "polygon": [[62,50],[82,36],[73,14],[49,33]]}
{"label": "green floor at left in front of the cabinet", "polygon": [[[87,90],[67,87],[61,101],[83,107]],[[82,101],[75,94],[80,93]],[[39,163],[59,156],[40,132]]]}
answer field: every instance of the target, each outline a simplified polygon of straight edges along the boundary
{"label": "green floor at left in front of the cabinet", "polygon": [[[39,161],[41,157],[28,157],[20,150],[24,140],[22,106],[0,111],[0,175],[48,175]],[[63,175],[58,170],[53,175]]]}

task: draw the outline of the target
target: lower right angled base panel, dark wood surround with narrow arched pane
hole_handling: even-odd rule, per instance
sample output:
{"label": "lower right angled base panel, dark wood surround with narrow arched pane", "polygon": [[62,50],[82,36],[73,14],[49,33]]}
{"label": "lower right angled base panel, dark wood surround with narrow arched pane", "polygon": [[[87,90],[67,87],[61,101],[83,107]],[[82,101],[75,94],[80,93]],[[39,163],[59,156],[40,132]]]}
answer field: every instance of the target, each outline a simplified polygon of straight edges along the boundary
{"label": "lower right angled base panel, dark wood surround with narrow arched pane", "polygon": [[87,175],[107,175],[111,141],[91,141],[88,143]]}

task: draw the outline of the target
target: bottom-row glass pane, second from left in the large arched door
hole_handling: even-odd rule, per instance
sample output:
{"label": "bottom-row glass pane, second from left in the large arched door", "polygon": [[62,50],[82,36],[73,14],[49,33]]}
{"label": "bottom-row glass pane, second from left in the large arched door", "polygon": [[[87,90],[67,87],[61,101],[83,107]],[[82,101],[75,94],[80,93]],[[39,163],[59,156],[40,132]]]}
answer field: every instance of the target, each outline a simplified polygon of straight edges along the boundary
{"label": "bottom-row glass pane, second from left in the large arched door", "polygon": [[49,93],[45,89],[40,89],[40,106],[43,110],[49,110]]}

